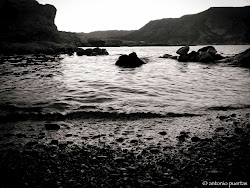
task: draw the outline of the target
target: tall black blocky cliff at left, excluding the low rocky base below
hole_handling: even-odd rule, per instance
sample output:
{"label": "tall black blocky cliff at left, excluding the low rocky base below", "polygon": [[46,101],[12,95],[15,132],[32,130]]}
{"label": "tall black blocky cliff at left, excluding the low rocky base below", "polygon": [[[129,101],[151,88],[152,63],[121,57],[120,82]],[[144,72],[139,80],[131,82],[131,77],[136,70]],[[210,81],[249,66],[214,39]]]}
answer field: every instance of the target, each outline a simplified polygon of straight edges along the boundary
{"label": "tall black blocky cliff at left, excluding the low rocky base below", "polygon": [[59,40],[54,19],[56,8],[35,0],[0,1],[0,41],[31,42]]}

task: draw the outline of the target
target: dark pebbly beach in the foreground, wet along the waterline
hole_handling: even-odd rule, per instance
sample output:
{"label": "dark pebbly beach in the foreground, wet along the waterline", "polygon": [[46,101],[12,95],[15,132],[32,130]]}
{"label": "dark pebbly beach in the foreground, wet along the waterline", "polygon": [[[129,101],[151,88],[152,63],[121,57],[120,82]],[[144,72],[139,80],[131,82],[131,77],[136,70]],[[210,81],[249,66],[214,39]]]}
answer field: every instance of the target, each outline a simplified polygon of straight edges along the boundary
{"label": "dark pebbly beach in the foreground, wet along the waterline", "polygon": [[[95,134],[83,136],[74,130],[75,126],[61,126],[59,131],[64,134],[60,136],[59,131],[46,130],[35,121],[21,122],[19,130],[17,123],[2,124],[0,186],[205,187],[206,183],[216,182],[249,185],[249,108],[210,110],[211,115],[201,117],[74,122],[75,126],[77,122],[81,125],[78,128],[83,132],[83,122],[89,128],[91,124],[111,124],[113,135],[95,128]],[[183,125],[187,122],[188,127]],[[122,123],[131,125],[129,128],[134,127],[134,131],[129,132],[124,126],[127,132],[119,133]],[[173,124],[180,127],[173,130],[177,132],[175,144],[166,144],[170,138],[167,129]],[[140,132],[139,126],[149,129]],[[148,136],[152,131],[155,134]]]}

